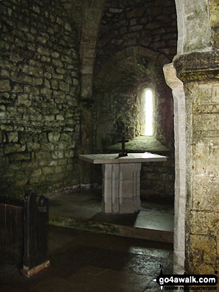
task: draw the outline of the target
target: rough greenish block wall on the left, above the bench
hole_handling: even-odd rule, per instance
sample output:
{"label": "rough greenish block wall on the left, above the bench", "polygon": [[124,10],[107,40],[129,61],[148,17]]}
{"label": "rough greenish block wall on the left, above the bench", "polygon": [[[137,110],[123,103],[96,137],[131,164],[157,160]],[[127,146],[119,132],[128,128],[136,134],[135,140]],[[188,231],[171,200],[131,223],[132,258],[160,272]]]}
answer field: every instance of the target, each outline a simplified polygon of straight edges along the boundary
{"label": "rough greenish block wall on the left, above the bench", "polygon": [[76,185],[77,34],[55,1],[0,2],[0,195]]}

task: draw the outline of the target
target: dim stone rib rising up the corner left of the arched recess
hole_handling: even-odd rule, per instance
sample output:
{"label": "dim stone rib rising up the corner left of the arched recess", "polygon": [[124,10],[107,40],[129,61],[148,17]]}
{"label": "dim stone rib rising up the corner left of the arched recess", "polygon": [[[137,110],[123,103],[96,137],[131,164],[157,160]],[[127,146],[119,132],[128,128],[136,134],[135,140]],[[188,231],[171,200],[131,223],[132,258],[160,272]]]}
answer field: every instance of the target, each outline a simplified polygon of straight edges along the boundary
{"label": "dim stone rib rising up the corner left of the arched recess", "polygon": [[[105,0],[89,0],[85,6],[80,37],[81,63],[81,148],[80,154],[93,151],[93,70],[96,56],[98,27]],[[80,180],[82,184],[92,182],[92,165],[80,162]]]}

